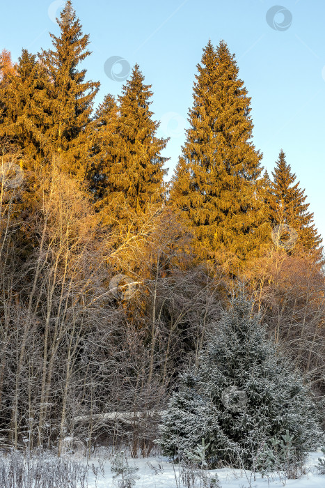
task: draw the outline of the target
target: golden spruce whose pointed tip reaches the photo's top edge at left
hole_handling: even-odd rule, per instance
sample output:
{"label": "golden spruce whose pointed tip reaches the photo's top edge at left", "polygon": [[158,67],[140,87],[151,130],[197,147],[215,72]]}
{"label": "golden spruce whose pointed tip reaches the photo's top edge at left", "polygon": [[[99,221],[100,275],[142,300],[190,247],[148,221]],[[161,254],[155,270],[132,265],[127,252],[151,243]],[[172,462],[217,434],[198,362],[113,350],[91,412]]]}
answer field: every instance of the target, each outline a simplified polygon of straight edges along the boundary
{"label": "golden spruce whose pointed tip reaches the photo's top edge at left", "polygon": [[85,82],[86,69],[78,70],[79,63],[91,54],[87,49],[90,41],[88,35],[82,34],[70,0],[57,22],[61,35],[50,33],[53,49],[40,53],[47,73],[45,111],[49,121],[45,135],[51,150],[61,155],[63,169],[84,179],[93,147],[90,119],[100,82]]}

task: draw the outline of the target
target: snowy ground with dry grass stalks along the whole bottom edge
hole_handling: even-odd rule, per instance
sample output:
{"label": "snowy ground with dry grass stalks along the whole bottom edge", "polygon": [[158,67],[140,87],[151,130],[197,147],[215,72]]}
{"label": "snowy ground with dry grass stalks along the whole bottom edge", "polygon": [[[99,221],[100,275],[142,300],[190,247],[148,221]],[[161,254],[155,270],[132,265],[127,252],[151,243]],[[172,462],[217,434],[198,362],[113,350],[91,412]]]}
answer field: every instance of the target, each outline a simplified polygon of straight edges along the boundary
{"label": "snowy ground with dry grass stalks along the whole bottom edge", "polygon": [[[50,451],[33,452],[31,457],[17,451],[6,455],[1,453],[0,456],[0,488],[35,488],[35,486],[119,488],[122,486],[118,483],[120,477],[113,479],[111,450],[107,448],[97,448],[88,461],[82,450],[79,454],[65,452],[60,458],[56,457],[55,452]],[[324,459],[320,451],[310,453],[305,465],[306,475],[299,480],[285,480],[283,476],[275,473],[269,478],[262,478],[257,474],[254,480],[251,471],[231,468],[205,473],[209,478],[217,474],[222,488],[276,488],[284,485],[295,488],[325,488],[325,475],[320,475],[316,467],[319,457]],[[123,466],[125,466],[125,458],[123,459]],[[188,488],[187,483],[182,479],[184,468],[168,462],[166,457],[157,455],[132,459],[127,456],[127,461],[129,468],[138,468],[136,471],[138,480],[134,488]],[[124,485],[125,488],[127,486],[131,485]],[[191,485],[191,488],[199,487],[203,488],[203,485],[200,485],[200,478],[196,478],[195,487]]]}

